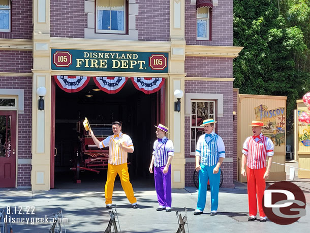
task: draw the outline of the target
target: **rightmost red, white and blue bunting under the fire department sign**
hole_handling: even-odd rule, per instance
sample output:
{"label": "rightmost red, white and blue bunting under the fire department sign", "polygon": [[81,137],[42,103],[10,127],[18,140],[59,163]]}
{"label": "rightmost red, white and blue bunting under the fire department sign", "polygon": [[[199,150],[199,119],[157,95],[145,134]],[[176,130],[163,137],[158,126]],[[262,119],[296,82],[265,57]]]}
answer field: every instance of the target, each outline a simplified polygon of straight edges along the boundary
{"label": "rightmost red, white and blue bunting under the fire department sign", "polygon": [[144,92],[145,94],[152,94],[161,89],[162,85],[165,83],[164,78],[140,78],[133,77],[131,78],[134,86],[139,91]]}

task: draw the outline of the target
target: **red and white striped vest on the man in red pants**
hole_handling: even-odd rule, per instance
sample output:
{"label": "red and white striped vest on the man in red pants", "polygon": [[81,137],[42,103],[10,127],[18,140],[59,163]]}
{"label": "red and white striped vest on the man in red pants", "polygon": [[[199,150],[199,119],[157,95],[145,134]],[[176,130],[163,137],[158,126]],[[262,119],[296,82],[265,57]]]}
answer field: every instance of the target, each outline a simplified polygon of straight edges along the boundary
{"label": "red and white striped vest on the man in red pants", "polygon": [[256,142],[253,137],[247,142],[247,166],[251,169],[261,169],[266,167],[267,157],[267,137],[262,136]]}

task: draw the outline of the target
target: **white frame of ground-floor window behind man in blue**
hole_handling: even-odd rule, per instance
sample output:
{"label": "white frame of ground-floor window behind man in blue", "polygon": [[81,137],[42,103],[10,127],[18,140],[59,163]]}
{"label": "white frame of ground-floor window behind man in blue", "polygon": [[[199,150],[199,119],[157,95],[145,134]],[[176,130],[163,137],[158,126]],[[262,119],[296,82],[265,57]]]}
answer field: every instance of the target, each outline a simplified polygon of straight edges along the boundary
{"label": "white frame of ground-floor window behind man in blue", "polygon": [[[210,109],[210,103],[213,103],[213,113],[210,114],[210,111],[208,111],[208,115],[205,117],[204,120],[206,119],[210,119],[212,118],[214,121],[216,121],[216,101],[215,100],[201,100],[201,99],[198,99],[198,100],[195,100],[195,99],[192,99],[191,100],[191,118],[190,118],[190,155],[195,155],[196,153],[196,145],[197,145],[197,129],[200,129],[200,128],[203,128],[203,126],[192,126],[192,116],[195,115],[195,119],[196,119],[196,124],[197,124],[197,103],[209,103],[208,104],[208,109]],[[196,103],[195,104],[195,113],[192,112],[192,103]],[[215,128],[215,125],[214,124],[214,128]],[[192,129],[196,129],[195,130],[195,139],[192,139]],[[195,141],[195,148],[194,148],[194,152],[192,152],[192,141]]]}

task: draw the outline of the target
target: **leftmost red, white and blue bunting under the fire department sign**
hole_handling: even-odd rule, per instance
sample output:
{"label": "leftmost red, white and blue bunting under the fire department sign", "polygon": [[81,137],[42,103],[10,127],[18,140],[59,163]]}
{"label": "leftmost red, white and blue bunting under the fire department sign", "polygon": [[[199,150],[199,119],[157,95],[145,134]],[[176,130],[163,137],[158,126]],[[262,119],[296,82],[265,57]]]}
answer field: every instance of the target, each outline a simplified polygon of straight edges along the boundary
{"label": "leftmost red, white and blue bunting under the fire department sign", "polygon": [[59,88],[65,92],[74,93],[81,91],[89,82],[90,77],[57,75],[54,79]]}

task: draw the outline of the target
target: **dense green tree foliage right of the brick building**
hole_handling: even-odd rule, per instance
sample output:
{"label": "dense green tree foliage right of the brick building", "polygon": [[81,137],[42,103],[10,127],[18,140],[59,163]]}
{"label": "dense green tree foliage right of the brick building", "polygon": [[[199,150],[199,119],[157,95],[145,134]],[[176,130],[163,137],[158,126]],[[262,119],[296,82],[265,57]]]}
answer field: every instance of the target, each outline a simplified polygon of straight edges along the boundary
{"label": "dense green tree foliage right of the brick building", "polygon": [[309,6],[309,0],[234,1],[234,46],[244,47],[233,63],[234,87],[241,94],[287,96],[287,130],[296,99],[310,91]]}

